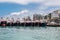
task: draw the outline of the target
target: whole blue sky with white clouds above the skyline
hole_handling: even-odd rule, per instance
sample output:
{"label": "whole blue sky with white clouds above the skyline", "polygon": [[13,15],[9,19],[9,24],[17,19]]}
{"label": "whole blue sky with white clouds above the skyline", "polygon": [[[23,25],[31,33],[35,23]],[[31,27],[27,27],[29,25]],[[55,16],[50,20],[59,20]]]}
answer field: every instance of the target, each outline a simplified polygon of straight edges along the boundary
{"label": "whole blue sky with white clouds above the skyline", "polygon": [[60,10],[60,0],[0,0],[0,17],[32,17]]}

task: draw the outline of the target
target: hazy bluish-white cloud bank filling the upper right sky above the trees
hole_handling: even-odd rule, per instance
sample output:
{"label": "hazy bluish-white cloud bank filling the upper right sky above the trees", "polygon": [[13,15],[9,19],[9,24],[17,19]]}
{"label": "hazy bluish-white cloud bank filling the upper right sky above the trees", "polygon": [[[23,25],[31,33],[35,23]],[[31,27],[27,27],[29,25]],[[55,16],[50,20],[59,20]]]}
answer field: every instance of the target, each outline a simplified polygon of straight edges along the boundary
{"label": "hazy bluish-white cloud bank filling the upper right sky above the trees", "polygon": [[[58,6],[60,6],[60,0],[45,0],[42,2],[42,5],[40,5],[37,8],[36,13],[40,13],[41,15],[47,15],[54,10],[60,10]],[[49,7],[56,7],[56,8],[49,8]]]}

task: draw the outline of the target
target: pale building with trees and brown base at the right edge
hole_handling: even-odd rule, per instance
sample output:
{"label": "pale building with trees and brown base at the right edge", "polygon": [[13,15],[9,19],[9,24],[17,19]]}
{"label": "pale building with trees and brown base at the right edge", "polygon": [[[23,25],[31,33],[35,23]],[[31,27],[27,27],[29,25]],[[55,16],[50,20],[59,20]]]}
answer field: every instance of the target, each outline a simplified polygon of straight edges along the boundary
{"label": "pale building with trees and brown base at the right edge", "polygon": [[53,11],[45,16],[50,22],[60,23],[60,10]]}

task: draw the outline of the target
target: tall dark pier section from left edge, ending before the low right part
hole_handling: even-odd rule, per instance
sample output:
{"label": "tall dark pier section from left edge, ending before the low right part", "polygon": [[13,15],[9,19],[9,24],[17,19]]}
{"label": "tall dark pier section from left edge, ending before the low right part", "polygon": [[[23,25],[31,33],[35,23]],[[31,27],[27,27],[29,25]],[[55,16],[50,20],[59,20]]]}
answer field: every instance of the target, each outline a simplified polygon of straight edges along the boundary
{"label": "tall dark pier section from left edge, ending before the low right part", "polygon": [[7,22],[1,21],[0,26],[46,26],[46,23],[36,21],[25,21],[25,22]]}

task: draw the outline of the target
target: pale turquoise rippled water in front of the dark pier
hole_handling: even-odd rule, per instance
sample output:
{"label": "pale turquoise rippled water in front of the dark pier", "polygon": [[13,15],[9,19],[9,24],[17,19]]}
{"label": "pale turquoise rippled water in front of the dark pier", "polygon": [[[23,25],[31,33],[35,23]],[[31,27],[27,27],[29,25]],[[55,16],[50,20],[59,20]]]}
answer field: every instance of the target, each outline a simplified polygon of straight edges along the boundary
{"label": "pale turquoise rippled water in front of the dark pier", "polygon": [[0,27],[0,40],[60,40],[60,27]]}

